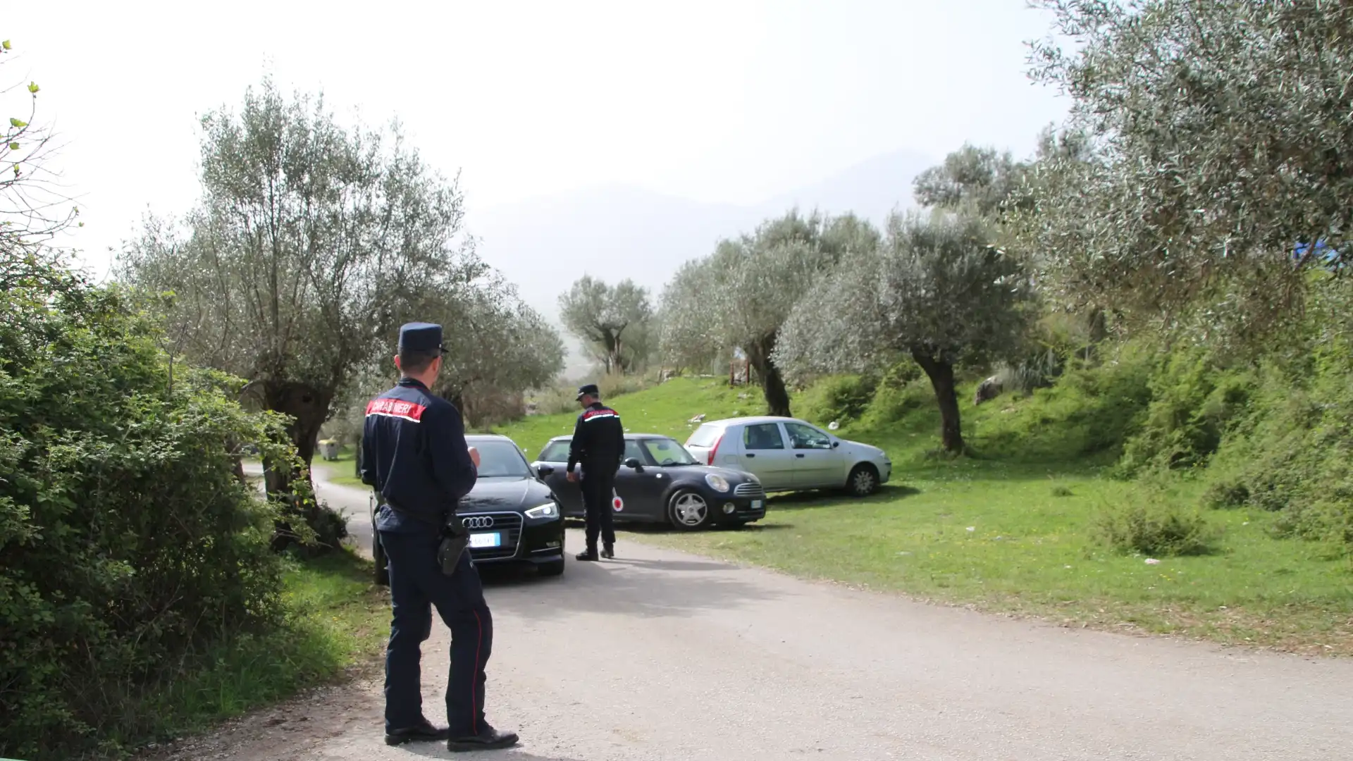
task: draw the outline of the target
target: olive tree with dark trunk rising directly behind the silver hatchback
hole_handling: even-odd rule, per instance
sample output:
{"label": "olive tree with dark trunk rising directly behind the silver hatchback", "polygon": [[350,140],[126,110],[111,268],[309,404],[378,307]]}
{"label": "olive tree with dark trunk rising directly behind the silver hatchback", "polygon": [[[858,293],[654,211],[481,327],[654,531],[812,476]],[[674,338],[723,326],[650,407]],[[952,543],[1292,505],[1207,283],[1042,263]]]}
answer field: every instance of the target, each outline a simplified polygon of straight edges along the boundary
{"label": "olive tree with dark trunk rising directly behind the silver hatchback", "polygon": [[790,414],[785,378],[771,359],[781,325],[843,256],[878,240],[878,230],[855,215],[796,210],[721,241],[708,259],[678,271],[663,294],[664,320],[678,313],[682,320],[667,333],[667,352],[693,362],[741,349],[770,414]]}

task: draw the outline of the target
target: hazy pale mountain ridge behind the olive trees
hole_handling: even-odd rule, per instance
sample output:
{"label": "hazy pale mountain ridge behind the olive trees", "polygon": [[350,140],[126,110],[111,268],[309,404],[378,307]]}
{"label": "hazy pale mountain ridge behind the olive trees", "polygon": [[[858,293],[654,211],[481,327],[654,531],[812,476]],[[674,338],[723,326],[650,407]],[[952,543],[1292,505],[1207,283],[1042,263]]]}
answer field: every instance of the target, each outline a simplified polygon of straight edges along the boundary
{"label": "hazy pale mountain ridge behind the olive trees", "polygon": [[[636,186],[594,186],[529,198],[474,214],[479,252],[517,284],[521,298],[560,328],[559,295],[583,275],[617,283],[626,278],[649,290],[653,306],[663,286],[691,259],[723,238],[751,232],[797,207],[824,214],[854,211],[875,225],[912,206],[912,180],[936,164],[897,150],[755,204],[706,203]],[[567,337],[568,378],[591,362]]]}

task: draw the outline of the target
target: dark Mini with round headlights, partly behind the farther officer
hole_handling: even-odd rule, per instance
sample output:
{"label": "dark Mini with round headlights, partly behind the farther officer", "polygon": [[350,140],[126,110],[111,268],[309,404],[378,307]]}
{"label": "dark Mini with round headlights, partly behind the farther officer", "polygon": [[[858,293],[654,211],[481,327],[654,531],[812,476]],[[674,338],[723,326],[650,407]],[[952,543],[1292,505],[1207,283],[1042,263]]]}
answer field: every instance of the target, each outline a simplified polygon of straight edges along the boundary
{"label": "dark Mini with round headlights, partly behind the farther officer", "polygon": [[[571,440],[551,439],[532,466],[559,497],[564,516],[583,517],[582,490],[566,478]],[[737,527],[766,517],[766,490],[750,473],[697,462],[671,436],[625,433],[612,508],[617,521],[667,523],[682,531]]]}

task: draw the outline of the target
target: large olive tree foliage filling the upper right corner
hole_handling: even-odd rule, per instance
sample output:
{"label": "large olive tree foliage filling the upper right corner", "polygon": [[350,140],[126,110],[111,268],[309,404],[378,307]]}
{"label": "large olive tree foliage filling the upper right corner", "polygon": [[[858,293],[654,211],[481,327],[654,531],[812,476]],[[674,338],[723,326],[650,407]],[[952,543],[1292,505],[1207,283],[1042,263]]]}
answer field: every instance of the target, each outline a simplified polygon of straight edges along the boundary
{"label": "large olive tree foliage filling the upper right corner", "polygon": [[1031,74],[1091,138],[1028,219],[1047,274],[1069,299],[1242,339],[1281,325],[1307,271],[1353,251],[1349,4],[1035,4],[1068,49],[1035,43]]}

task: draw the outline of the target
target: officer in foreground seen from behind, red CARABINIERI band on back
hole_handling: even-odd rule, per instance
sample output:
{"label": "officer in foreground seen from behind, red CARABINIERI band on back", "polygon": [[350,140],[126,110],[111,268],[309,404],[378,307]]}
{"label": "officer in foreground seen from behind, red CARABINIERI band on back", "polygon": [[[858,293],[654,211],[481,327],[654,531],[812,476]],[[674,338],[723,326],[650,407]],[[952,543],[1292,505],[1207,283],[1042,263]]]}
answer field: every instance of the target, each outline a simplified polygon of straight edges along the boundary
{"label": "officer in foreground seen from behind, red CARABINIERI band on back", "polygon": [[[455,405],[433,395],[441,370],[441,325],[399,329],[399,383],[367,405],[361,481],[375,486],[376,531],[390,567],[390,645],[386,649],[386,742],[446,741],[449,750],[509,747],[515,733],[484,720],[484,664],[494,624],[469,551],[446,575],[438,561],[444,536],[464,538],[456,506],[475,486],[479,452],[465,444]],[[463,547],[463,544],[461,544]],[[432,607],[451,628],[446,729],[422,715],[419,661],[432,632]]]}

